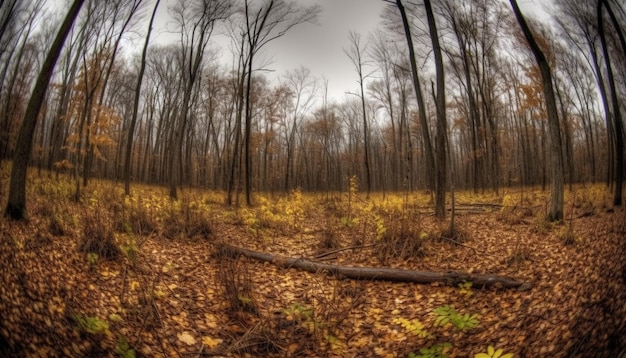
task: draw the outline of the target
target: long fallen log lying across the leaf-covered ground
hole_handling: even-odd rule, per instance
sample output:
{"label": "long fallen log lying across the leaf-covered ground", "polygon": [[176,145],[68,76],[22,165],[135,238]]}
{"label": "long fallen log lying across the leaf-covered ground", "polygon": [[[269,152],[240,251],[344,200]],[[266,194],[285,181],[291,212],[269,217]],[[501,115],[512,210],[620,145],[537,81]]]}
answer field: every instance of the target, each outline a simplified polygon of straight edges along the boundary
{"label": "long fallen log lying across the leaf-covered ground", "polygon": [[518,290],[528,290],[532,287],[530,283],[516,281],[512,278],[500,275],[472,274],[460,271],[413,271],[389,267],[340,266],[315,262],[304,258],[268,254],[230,245],[224,245],[220,249],[225,250],[222,252],[227,252],[229,256],[233,257],[244,256],[262,262],[269,262],[283,268],[297,268],[311,273],[328,272],[333,275],[355,280],[379,280],[411,283],[441,282],[451,286],[456,286],[459,283],[471,282],[472,286],[475,288],[501,287],[517,288]]}

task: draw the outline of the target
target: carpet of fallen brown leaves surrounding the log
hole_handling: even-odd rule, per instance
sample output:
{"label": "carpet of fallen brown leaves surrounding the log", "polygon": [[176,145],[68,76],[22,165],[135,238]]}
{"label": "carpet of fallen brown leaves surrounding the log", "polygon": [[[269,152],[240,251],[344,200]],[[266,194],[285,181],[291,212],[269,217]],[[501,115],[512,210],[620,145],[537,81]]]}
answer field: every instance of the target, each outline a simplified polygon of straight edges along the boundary
{"label": "carpet of fallen brown leaves surrounding the log", "polygon": [[[230,222],[231,213],[219,207],[214,210],[219,216],[212,219],[214,231],[238,246],[293,257],[312,257],[319,249],[314,235],[322,228],[332,230],[339,248],[349,247],[356,236],[366,244],[376,243],[376,222],[363,218],[374,215],[377,205],[383,206],[375,195],[370,202],[377,205],[367,209],[364,204],[354,211],[361,221],[353,227],[340,224],[345,215],[341,198],[335,218],[328,217],[334,212],[321,209],[319,198],[302,196],[307,210],[293,230],[269,227],[258,236],[245,225]],[[67,205],[66,211],[82,224],[84,208]],[[250,210],[253,214],[255,209]],[[45,215],[53,214],[49,211]],[[254,315],[240,321],[227,314],[229,306],[217,285],[223,270],[211,255],[209,241],[145,236],[138,240],[141,245],[135,261],[123,256],[89,270],[84,255],[76,250],[80,236],[71,223],[46,245],[29,245],[37,237],[37,223],[46,222],[45,217],[34,215],[30,225],[0,221],[0,262],[4,265],[0,332],[10,343],[32,342],[22,353],[33,355],[106,355],[114,352],[117,335],[126,337],[131,349],[148,356],[243,355],[246,342],[255,345],[254,352],[269,356],[407,356],[445,342],[453,344],[447,351],[451,357],[473,356],[490,345],[528,356],[610,355],[608,340],[613,327],[623,324],[620,320],[626,309],[620,266],[626,246],[621,244],[623,228],[615,224],[624,219],[624,213],[598,212],[573,220],[571,232],[577,240],[571,246],[563,245],[562,227],[537,230],[536,217],[510,222],[497,216],[496,209],[458,218],[468,233],[466,244],[476,251],[430,235],[423,243],[425,257],[390,258],[388,265],[497,273],[534,282],[529,291],[356,283],[235,257],[232,269],[248,278],[234,284],[249,284],[258,306]],[[412,223],[417,225],[417,220]],[[163,225],[158,221],[155,231]],[[420,216],[419,225],[419,232],[439,230],[428,216]],[[375,250],[376,246],[337,251],[325,256],[324,262],[380,265]],[[516,254],[523,257],[511,259]],[[233,297],[245,300],[247,296]],[[479,315],[480,326],[468,331],[436,326],[432,312],[444,305]],[[112,337],[81,336],[66,318],[72,314],[106,321]],[[619,339],[623,338],[615,338]]]}

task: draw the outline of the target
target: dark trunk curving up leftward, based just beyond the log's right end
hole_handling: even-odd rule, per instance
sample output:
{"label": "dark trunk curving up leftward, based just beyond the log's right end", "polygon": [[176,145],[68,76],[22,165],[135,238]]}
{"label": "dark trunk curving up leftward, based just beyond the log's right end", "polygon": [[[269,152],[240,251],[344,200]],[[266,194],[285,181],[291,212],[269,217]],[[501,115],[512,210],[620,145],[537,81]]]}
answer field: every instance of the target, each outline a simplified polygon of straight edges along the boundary
{"label": "dark trunk curving up leftward, based just beyond the log's right end", "polygon": [[539,71],[541,72],[541,79],[543,85],[544,99],[546,102],[546,110],[548,113],[548,132],[549,132],[549,148],[550,148],[550,167],[551,167],[551,182],[550,182],[550,195],[551,202],[550,208],[547,213],[548,221],[560,221],[563,220],[563,197],[564,197],[564,168],[563,168],[563,154],[561,145],[561,132],[559,124],[559,115],[556,106],[556,97],[554,95],[554,88],[552,83],[552,72],[550,65],[546,59],[543,50],[537,44],[535,37],[526,23],[526,19],[522,14],[516,0],[510,0],[515,18],[519,23],[526,41],[535,56]]}

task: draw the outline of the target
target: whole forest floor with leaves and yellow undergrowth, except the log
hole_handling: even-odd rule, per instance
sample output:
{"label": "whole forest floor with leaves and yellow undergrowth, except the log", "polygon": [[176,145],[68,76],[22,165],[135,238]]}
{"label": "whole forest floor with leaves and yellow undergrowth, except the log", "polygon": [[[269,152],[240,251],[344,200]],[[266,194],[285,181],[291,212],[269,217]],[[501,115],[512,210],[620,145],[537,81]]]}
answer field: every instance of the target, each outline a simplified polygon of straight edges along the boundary
{"label": "whole forest floor with leaves and yellow undergrowth, except the log", "polygon": [[[457,193],[454,235],[422,192],[256,194],[236,209],[223,193],[172,202],[163,188],[133,190],[94,181],[76,203],[68,179],[29,179],[29,220],[0,219],[0,356],[474,357],[491,346],[616,357],[626,347],[626,212],[601,185],[568,190],[560,224],[543,220],[539,190]],[[349,280],[224,244],[528,285]]]}

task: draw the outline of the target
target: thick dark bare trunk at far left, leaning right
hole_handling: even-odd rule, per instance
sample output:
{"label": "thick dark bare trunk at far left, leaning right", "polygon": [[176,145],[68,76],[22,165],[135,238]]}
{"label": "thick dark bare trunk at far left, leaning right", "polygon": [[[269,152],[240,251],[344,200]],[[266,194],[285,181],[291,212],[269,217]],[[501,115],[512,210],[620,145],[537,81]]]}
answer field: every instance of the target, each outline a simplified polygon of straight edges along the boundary
{"label": "thick dark bare trunk at far left, leaning right", "polygon": [[15,148],[15,155],[13,157],[13,168],[11,169],[11,181],[9,184],[9,201],[5,209],[5,215],[14,219],[21,220],[26,215],[26,172],[28,169],[28,162],[31,155],[31,149],[33,144],[33,134],[35,133],[35,127],[37,125],[37,119],[39,117],[39,111],[46,95],[46,90],[50,84],[52,78],[52,72],[54,66],[61,54],[61,49],[65,43],[65,38],[70,32],[74,20],[80,12],[85,0],[74,0],[70,7],[59,32],[57,33],[54,42],[46,55],[46,59],[43,62],[37,82],[28,101],[26,112],[24,113],[24,120],[20,127],[20,132],[17,138],[17,147]]}

